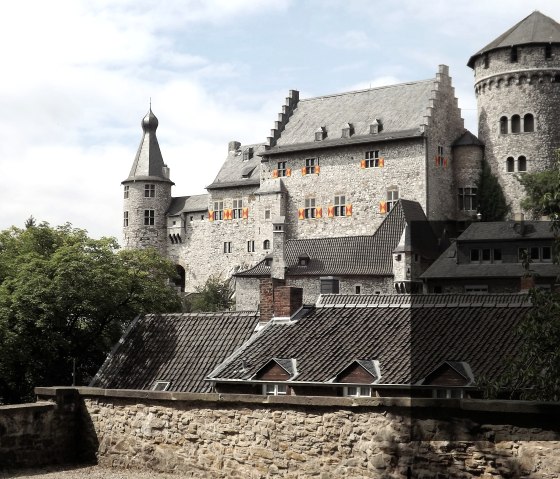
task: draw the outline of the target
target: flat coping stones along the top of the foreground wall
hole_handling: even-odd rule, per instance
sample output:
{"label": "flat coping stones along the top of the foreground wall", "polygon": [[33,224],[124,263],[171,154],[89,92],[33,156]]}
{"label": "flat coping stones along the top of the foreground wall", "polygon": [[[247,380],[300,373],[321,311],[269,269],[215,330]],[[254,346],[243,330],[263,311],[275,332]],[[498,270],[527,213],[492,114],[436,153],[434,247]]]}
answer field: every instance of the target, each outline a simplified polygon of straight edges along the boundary
{"label": "flat coping stones along the top of the foreground wall", "polygon": [[[191,403],[263,404],[278,406],[313,406],[345,408],[445,408],[463,411],[492,413],[546,414],[560,417],[560,402],[508,401],[485,399],[435,399],[409,397],[350,398],[335,396],[263,396],[254,394],[185,393],[173,391],[144,391],[132,389],[102,389],[92,387],[37,387],[35,394],[40,400],[29,406],[46,407],[52,403],[46,398],[55,398],[65,392],[75,391],[82,398],[148,399],[153,401]],[[21,407],[22,405],[14,406]],[[26,405],[27,406],[27,405]],[[10,407],[10,406],[4,406]],[[1,410],[2,408],[0,408]]]}

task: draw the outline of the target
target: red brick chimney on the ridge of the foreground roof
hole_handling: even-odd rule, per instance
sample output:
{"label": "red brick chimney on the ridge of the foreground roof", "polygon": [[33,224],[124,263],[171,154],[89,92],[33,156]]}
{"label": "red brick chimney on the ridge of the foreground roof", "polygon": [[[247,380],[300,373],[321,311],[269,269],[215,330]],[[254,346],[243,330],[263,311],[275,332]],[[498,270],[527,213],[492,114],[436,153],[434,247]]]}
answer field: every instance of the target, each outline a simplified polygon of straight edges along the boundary
{"label": "red brick chimney on the ridge of the foreground roof", "polygon": [[260,322],[272,318],[290,318],[303,304],[303,289],[285,286],[284,280],[260,280]]}

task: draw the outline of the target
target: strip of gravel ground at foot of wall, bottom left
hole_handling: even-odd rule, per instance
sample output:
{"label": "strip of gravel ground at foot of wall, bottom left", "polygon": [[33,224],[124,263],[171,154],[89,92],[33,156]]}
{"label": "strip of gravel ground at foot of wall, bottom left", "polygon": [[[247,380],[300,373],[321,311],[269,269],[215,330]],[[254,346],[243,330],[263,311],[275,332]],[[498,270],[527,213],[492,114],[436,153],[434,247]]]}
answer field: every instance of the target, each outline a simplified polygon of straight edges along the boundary
{"label": "strip of gravel ground at foot of wall, bottom left", "polygon": [[45,467],[42,469],[21,469],[11,472],[0,471],[0,479],[178,479],[179,477],[179,475],[174,474],[106,469],[99,466]]}

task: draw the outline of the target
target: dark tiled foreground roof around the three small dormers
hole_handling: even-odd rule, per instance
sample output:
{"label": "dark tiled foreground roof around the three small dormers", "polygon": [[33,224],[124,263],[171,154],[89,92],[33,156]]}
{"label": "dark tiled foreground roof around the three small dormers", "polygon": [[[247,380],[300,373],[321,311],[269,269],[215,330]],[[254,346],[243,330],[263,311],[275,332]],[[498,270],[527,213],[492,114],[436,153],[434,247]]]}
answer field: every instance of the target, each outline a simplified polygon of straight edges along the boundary
{"label": "dark tiled foreground roof around the three small dormers", "polygon": [[271,358],[289,357],[298,364],[293,383],[329,382],[359,359],[379,361],[376,384],[415,384],[443,361],[491,380],[518,348],[514,330],[530,309],[525,295],[353,295],[346,304],[336,296],[338,304],[297,321],[267,323],[209,378],[248,381]]}

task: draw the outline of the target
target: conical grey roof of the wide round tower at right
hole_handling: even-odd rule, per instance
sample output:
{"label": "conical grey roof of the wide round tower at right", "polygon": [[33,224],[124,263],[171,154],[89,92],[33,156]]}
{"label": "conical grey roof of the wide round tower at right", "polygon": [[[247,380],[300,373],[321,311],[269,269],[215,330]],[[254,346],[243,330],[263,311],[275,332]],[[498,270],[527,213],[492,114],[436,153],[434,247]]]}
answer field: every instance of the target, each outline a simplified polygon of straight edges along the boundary
{"label": "conical grey roof of the wide round tower at right", "polygon": [[474,66],[476,57],[498,48],[511,48],[515,45],[560,43],[560,24],[538,10],[516,23],[508,31],[476,52],[468,61],[469,67]]}

